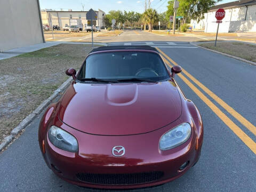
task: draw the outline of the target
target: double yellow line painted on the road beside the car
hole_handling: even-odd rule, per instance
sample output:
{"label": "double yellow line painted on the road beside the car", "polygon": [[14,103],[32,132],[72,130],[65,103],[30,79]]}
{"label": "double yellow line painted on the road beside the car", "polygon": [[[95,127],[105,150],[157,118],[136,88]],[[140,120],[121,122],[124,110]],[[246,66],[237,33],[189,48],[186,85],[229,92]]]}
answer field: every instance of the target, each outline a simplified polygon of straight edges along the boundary
{"label": "double yellow line painted on the road beside the car", "polygon": [[[158,47],[156,47],[156,49],[164,56],[163,58],[167,65],[169,65],[170,67],[172,67],[171,63],[173,63],[173,65],[178,65]],[[198,85],[213,100],[219,103],[221,107],[226,109],[230,115],[235,117],[237,121],[239,121],[254,135],[256,135],[256,127],[253,124],[247,121],[247,119],[245,119],[242,115],[237,113],[237,111],[235,111],[226,102],[224,102],[217,95],[215,95],[211,90],[207,89],[206,86],[200,83],[195,77],[190,75],[185,69],[182,69],[182,71],[191,81]],[[241,130],[227,115],[225,115],[225,113],[223,113],[216,105],[214,105],[214,103],[210,99],[208,99],[200,90],[198,90],[197,87],[188,80],[188,78],[186,78],[182,74],[179,74],[179,77],[190,87],[191,90],[193,90],[198,95],[199,98],[201,98],[205,102],[207,106],[210,107],[210,109],[223,121],[223,123],[225,123],[237,135],[237,137],[240,138],[245,143],[245,145],[253,151],[254,154],[256,154],[256,143],[246,133],[244,133],[243,130]]]}

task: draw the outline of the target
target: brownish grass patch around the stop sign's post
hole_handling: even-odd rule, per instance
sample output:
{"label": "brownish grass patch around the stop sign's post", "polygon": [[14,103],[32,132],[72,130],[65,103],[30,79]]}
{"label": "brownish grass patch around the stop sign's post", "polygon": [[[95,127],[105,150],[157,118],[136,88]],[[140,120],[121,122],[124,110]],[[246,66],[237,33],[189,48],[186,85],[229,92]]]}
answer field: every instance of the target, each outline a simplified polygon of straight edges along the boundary
{"label": "brownish grass patch around the stop sign's post", "polygon": [[256,45],[240,42],[217,42],[216,47],[214,46],[214,43],[203,43],[198,45],[256,62]]}

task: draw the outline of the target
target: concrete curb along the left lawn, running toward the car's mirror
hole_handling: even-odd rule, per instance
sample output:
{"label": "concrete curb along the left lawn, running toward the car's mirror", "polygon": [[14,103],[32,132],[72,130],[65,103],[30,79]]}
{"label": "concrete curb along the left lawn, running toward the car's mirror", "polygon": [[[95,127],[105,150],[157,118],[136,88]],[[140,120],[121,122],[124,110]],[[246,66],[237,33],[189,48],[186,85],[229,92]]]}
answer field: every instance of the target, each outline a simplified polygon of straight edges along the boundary
{"label": "concrete curb along the left lawn, running toward the car's mirror", "polygon": [[0,143],[0,152],[7,146],[9,145],[9,143],[13,140],[13,138],[18,134],[20,133],[23,129],[25,129],[25,127],[31,123],[34,118],[40,114],[45,107],[47,107],[50,102],[55,99],[59,93],[63,92],[66,90],[66,88],[68,87],[68,85],[70,84],[70,82],[72,81],[73,77],[69,77],[67,79],[67,81],[65,81],[64,83],[62,83],[60,85],[60,87],[55,90],[53,92],[53,94],[47,98],[46,100],[44,100],[31,114],[29,114],[25,119],[22,120],[22,122],[17,126],[15,127],[11,134],[7,137],[4,138],[4,141],[2,143]]}

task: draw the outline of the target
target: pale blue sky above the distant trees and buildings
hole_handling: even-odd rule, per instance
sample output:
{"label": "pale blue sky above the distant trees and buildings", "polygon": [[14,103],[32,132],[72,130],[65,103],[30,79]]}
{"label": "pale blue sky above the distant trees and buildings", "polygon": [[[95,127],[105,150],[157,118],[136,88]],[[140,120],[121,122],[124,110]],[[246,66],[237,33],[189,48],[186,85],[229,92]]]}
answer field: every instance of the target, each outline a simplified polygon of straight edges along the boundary
{"label": "pale blue sky above the distant trees and buildings", "polygon": [[[151,6],[157,10],[158,13],[165,12],[167,10],[167,2],[169,0],[150,0]],[[234,0],[222,0],[218,4],[233,2]],[[142,13],[145,10],[145,0],[39,0],[41,9],[53,9],[68,11],[81,11],[82,4],[84,10],[102,10],[106,13],[110,10],[121,11],[135,11]]]}

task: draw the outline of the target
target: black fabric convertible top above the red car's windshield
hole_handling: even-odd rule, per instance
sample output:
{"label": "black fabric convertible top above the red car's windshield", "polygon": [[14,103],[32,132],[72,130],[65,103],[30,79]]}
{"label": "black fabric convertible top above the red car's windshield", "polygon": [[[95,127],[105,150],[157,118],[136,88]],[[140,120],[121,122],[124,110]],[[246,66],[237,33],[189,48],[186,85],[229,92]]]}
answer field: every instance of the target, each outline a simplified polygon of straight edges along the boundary
{"label": "black fabric convertible top above the red car's windshield", "polygon": [[[107,50],[150,50],[150,51],[157,51],[155,47],[151,47],[148,45],[118,45],[118,46],[100,46],[94,48],[90,53],[96,51],[107,51]],[[159,52],[158,52],[159,53]]]}

